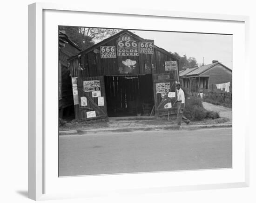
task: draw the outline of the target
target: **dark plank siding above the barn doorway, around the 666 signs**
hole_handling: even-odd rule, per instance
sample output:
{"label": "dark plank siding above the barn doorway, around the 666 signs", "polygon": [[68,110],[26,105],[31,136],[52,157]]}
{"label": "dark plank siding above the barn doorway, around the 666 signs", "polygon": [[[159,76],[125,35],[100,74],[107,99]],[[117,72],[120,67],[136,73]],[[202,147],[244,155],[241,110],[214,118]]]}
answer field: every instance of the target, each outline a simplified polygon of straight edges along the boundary
{"label": "dark plank siding above the barn doorway, around the 666 signs", "polygon": [[[100,46],[115,46],[117,38],[107,41],[105,44],[96,46],[93,50],[81,52],[81,55],[72,58],[70,63],[73,63],[73,71],[77,71],[79,61],[81,60],[81,68],[83,70],[80,75],[83,77],[89,76],[118,76],[118,75],[145,75],[156,73],[173,73],[174,78],[178,78],[178,71],[165,71],[165,61],[177,61],[174,57],[168,55],[167,51],[159,48],[154,49],[154,54],[140,54],[138,57],[127,56],[116,58],[101,58]],[[135,40],[139,40],[136,39]],[[117,51],[117,49],[116,49]],[[135,65],[129,69],[123,64],[127,59],[135,61]],[[75,62],[77,61],[77,62]],[[178,63],[178,62],[177,62]],[[76,65],[75,65],[76,64]],[[72,71],[71,71],[72,72]],[[74,77],[74,75],[72,75]],[[178,80],[178,79],[177,79]]]}

